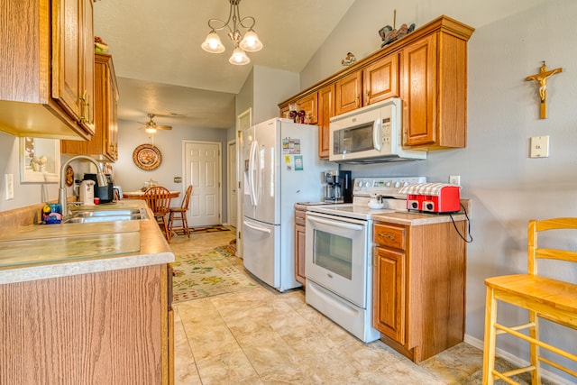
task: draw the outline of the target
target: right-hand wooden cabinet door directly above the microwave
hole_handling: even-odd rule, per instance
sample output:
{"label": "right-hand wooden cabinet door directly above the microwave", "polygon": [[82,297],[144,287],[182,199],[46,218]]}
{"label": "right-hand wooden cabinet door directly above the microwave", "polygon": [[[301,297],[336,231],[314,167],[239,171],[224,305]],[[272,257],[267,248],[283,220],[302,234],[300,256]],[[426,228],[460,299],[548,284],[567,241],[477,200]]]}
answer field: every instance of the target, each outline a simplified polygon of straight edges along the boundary
{"label": "right-hand wooden cabinet door directly above the microwave", "polygon": [[385,56],[362,69],[363,105],[398,97],[398,53]]}

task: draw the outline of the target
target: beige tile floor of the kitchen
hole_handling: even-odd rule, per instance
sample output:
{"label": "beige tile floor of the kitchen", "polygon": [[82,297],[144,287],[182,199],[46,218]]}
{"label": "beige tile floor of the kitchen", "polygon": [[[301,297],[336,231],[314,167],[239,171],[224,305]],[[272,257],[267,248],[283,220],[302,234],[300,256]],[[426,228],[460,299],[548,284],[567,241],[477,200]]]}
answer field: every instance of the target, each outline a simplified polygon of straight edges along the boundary
{"label": "beige tile floor of the kitchen", "polygon": [[[171,247],[232,239],[234,231],[177,236]],[[362,344],[307,306],[300,289],[262,286],[174,308],[176,384],[460,384],[473,383],[482,363],[464,343],[418,365],[380,341]]]}

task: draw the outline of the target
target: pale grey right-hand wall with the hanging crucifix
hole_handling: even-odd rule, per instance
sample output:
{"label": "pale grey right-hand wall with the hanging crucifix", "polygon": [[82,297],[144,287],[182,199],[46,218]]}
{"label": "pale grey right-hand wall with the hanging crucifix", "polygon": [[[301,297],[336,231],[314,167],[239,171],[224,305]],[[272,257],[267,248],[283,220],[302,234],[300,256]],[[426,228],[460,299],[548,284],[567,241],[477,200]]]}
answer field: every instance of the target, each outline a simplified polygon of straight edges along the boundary
{"label": "pale grey right-hand wall with the hanging crucifix", "polygon": [[[366,18],[362,16],[368,16],[371,22],[371,14],[367,14],[365,8],[376,3],[380,4],[369,0],[356,2],[349,13],[356,19],[348,19],[347,14],[343,20],[347,27],[339,25],[332,33],[334,41],[351,25],[365,24]],[[422,10],[423,4],[429,2],[408,3]],[[502,3],[504,8],[518,4]],[[477,30],[469,41],[466,149],[429,152],[428,159],[420,162],[343,168],[353,170],[353,178],[418,174],[430,181],[447,182],[449,175],[461,175],[462,196],[472,199],[473,242],[468,246],[466,334],[479,340],[483,339],[484,279],[527,271],[527,221],[577,216],[577,109],[574,107],[577,2],[551,0],[533,2],[533,5],[538,3],[542,4],[525,7],[524,11],[492,23],[472,25]],[[436,5],[435,2],[438,14],[431,14],[431,19],[447,14],[463,22],[461,18],[474,21],[480,12],[472,8],[465,12],[463,6],[455,6],[453,13],[452,6],[437,8]],[[365,11],[359,12],[357,8]],[[402,17],[400,21],[408,22],[410,18]],[[349,48],[333,47],[334,41],[328,44],[331,53],[325,52],[325,55],[336,56],[338,51],[343,56]],[[312,73],[321,72],[322,66],[315,60],[311,60],[307,69]],[[561,74],[548,81],[545,120],[538,119],[536,83],[525,80],[538,72],[541,60],[546,60],[549,69],[563,68]],[[301,78],[308,79],[307,83],[321,79],[310,78],[307,69],[301,74]],[[549,158],[528,158],[529,138],[538,135],[550,135]],[[559,240],[558,245],[574,250],[577,240]],[[557,267],[549,272],[559,278],[577,280],[574,266]],[[503,310],[505,322],[513,323],[524,316],[523,312],[509,307]],[[555,325],[545,325],[544,336],[569,350],[574,349],[577,341],[575,331]],[[498,346],[527,359],[525,343],[507,339]]]}

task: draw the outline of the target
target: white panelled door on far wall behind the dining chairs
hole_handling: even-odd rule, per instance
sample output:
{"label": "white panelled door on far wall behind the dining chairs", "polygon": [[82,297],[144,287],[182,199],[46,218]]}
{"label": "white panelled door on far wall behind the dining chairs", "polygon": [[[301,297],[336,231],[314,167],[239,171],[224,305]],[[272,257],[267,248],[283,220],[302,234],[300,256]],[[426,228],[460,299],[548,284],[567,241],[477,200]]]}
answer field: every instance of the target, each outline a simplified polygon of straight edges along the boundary
{"label": "white panelled door on far wall behind the dining chairs", "polygon": [[188,226],[221,225],[221,143],[184,141],[186,186],[192,184]]}

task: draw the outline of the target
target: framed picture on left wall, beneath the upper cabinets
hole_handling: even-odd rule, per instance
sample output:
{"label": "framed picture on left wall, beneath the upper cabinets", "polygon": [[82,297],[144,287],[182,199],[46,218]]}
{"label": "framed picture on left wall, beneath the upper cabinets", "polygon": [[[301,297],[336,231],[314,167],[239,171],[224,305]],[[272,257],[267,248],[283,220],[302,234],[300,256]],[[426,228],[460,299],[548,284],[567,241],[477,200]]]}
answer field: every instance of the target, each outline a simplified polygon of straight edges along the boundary
{"label": "framed picture on left wall, beneath the upper cabinets", "polygon": [[20,138],[20,182],[58,183],[60,181],[60,141]]}

